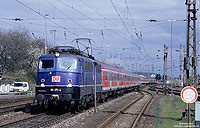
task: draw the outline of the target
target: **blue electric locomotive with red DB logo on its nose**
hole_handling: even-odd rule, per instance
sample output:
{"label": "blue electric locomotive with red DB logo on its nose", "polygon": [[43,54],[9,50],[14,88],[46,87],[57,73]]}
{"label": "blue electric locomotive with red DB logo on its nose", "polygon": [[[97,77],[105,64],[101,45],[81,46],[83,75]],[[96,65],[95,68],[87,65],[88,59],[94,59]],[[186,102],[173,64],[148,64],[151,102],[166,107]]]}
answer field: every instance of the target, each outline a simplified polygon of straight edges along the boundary
{"label": "blue electric locomotive with red DB logo on its nose", "polygon": [[[45,108],[55,105],[76,108],[93,101],[94,67],[97,94],[101,92],[101,66],[73,47],[56,47],[39,58],[35,99]],[[100,95],[98,95],[99,98]]]}

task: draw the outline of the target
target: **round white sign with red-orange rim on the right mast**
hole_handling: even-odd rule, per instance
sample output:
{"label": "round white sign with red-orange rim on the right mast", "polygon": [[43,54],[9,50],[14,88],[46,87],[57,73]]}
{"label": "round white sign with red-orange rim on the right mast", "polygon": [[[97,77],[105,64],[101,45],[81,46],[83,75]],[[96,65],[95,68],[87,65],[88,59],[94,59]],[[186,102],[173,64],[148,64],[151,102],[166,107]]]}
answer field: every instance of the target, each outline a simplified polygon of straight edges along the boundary
{"label": "round white sign with red-orange rim on the right mast", "polygon": [[181,99],[185,103],[194,103],[197,100],[198,93],[197,90],[193,87],[187,86],[181,91]]}

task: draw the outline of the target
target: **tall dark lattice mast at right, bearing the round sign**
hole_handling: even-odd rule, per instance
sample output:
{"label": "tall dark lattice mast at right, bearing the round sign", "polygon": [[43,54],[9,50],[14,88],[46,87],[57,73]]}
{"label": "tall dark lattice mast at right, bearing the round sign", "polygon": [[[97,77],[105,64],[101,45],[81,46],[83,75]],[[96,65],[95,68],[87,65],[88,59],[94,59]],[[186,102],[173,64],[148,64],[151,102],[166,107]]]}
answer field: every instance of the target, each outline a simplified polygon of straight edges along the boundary
{"label": "tall dark lattice mast at right, bearing the round sign", "polygon": [[[184,70],[186,70],[186,86],[194,86],[197,88],[196,81],[196,0],[186,0],[187,6],[187,55],[184,58]],[[192,15],[192,16],[191,16]],[[190,48],[193,52],[190,53]],[[192,61],[192,64],[190,63]],[[192,67],[192,75],[190,75],[190,67]],[[190,104],[188,108],[188,124],[190,127]]]}

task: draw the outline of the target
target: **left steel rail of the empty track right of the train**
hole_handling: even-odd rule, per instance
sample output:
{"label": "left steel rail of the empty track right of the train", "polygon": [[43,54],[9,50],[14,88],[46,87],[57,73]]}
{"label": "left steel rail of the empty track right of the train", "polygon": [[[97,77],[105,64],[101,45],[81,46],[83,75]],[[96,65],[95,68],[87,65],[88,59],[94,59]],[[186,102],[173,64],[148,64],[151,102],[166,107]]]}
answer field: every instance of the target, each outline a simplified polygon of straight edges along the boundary
{"label": "left steel rail of the empty track right of the train", "polygon": [[[140,92],[141,93],[141,92]],[[132,106],[133,104],[135,104],[137,101],[139,101],[140,99],[142,99],[144,97],[144,94],[141,93],[142,96],[140,96],[138,99],[134,100],[133,102],[131,102],[130,104],[128,104],[127,106],[125,106],[124,108],[122,108],[120,111],[118,111],[116,114],[114,114],[111,118],[107,119],[102,125],[100,125],[98,128],[104,128],[106,126],[108,126],[108,124],[110,124],[114,119],[116,119],[122,112],[124,112],[125,110],[127,110],[130,106]]]}

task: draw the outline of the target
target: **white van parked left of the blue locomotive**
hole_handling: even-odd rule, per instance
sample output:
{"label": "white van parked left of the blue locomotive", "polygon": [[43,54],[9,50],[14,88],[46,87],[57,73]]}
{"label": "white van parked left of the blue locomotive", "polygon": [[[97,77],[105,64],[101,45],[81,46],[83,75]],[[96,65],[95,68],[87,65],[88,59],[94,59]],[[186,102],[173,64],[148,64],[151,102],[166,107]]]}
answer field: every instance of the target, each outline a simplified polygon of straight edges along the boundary
{"label": "white van parked left of the blue locomotive", "polygon": [[14,82],[13,86],[10,87],[11,92],[27,92],[29,91],[28,82]]}

